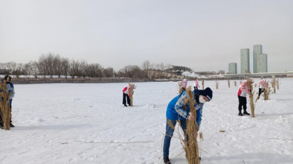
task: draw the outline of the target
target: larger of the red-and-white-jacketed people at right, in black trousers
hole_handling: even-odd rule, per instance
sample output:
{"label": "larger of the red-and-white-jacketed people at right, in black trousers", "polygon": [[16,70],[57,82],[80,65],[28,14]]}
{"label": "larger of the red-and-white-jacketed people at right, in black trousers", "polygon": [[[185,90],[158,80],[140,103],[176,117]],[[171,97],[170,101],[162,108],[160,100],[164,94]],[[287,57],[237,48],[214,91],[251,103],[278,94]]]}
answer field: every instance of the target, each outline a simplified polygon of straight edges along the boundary
{"label": "larger of the red-and-white-jacketed people at right, in black trousers", "polygon": [[[252,78],[251,78],[252,79]],[[250,115],[248,112],[246,112],[246,104],[247,104],[247,100],[246,100],[246,96],[249,94],[250,92],[250,89],[248,87],[248,84],[247,84],[247,80],[244,80],[243,82],[241,82],[240,84],[240,87],[238,89],[238,100],[239,100],[239,105],[238,105],[238,110],[239,110],[239,116],[243,116],[243,114],[246,114],[246,115]],[[243,114],[241,112],[242,110],[242,107],[243,107]]]}

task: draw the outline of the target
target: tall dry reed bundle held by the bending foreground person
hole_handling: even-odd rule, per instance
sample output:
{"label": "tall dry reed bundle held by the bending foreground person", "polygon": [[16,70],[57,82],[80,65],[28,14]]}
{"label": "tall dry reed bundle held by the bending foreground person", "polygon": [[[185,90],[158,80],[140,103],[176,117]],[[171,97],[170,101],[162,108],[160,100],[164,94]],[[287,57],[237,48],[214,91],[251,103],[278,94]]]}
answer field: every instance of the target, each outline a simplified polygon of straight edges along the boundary
{"label": "tall dry reed bundle held by the bending foreground person", "polygon": [[[191,87],[188,87],[188,89],[186,90],[186,93],[188,95],[188,101],[186,103],[189,103],[190,115],[197,118],[196,109],[194,107],[196,100],[194,98],[194,94],[191,91]],[[188,142],[184,142],[183,149],[186,153],[188,164],[199,164],[200,153],[199,153],[198,144],[197,144],[197,136],[194,135],[195,133],[197,133],[197,121],[196,119],[193,121],[189,121],[189,119],[187,119],[186,121],[187,121],[186,135],[188,135]]]}

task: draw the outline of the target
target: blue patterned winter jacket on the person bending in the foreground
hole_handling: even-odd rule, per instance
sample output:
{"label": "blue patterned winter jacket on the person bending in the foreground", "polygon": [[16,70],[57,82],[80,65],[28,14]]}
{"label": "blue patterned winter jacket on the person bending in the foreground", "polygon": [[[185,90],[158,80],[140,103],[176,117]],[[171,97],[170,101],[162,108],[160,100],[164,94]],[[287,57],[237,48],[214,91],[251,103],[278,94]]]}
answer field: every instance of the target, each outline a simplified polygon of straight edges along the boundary
{"label": "blue patterned winter jacket on the person bending in the foreground", "polygon": [[[197,90],[201,91],[201,90]],[[196,91],[193,91],[193,96],[197,95]],[[188,95],[186,94],[186,91],[183,91],[181,94],[173,98],[167,107],[166,117],[168,119],[172,120],[183,120],[188,119],[188,116],[190,116],[190,106],[189,102],[186,104],[186,110],[183,109],[185,100],[188,99]],[[203,103],[195,103],[194,107],[196,109],[197,113],[197,127],[200,128],[200,122],[202,121],[202,108]]]}

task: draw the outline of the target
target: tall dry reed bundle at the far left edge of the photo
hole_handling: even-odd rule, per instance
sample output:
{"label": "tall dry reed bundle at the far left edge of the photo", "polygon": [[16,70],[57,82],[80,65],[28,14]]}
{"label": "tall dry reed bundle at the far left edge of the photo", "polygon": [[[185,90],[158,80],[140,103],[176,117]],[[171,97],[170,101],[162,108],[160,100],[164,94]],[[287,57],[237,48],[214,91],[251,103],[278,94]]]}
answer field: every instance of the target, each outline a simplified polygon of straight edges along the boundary
{"label": "tall dry reed bundle at the far left edge of the photo", "polygon": [[[1,100],[2,99],[2,100]],[[5,130],[10,130],[10,94],[7,88],[6,80],[0,82],[0,114],[2,117],[3,125]]]}

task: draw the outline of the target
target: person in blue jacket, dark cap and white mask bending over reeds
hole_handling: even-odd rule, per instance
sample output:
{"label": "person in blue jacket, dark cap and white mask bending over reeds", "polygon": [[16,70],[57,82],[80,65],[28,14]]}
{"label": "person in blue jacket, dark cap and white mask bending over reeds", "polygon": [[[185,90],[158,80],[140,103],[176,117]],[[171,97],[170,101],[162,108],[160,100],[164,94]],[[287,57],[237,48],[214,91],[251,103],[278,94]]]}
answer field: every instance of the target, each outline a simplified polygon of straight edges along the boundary
{"label": "person in blue jacket, dark cap and white mask bending over reeds", "polygon": [[[168,124],[168,121],[170,120],[174,126],[176,126],[176,120],[180,120],[181,128],[184,132],[184,135],[186,134],[186,119],[189,119],[190,121],[193,121],[196,119],[197,121],[197,131],[200,130],[200,122],[202,121],[202,107],[204,106],[204,103],[209,102],[211,98],[213,98],[213,91],[211,91],[210,88],[206,88],[204,90],[194,90],[193,91],[193,98],[195,98],[195,109],[197,111],[197,118],[190,115],[190,106],[188,103],[186,104],[186,110],[183,109],[184,102],[186,99],[188,99],[188,95],[186,91],[183,91],[179,96],[176,96],[173,98],[168,107],[166,112],[167,117],[167,123],[166,123],[166,135],[164,139],[164,146],[163,146],[163,160],[164,163],[169,163],[169,149],[170,149],[170,142],[171,138],[174,133],[174,129]],[[195,134],[197,136],[197,133]],[[186,136],[186,140],[188,140],[188,136]]]}

